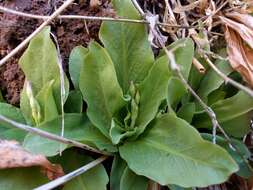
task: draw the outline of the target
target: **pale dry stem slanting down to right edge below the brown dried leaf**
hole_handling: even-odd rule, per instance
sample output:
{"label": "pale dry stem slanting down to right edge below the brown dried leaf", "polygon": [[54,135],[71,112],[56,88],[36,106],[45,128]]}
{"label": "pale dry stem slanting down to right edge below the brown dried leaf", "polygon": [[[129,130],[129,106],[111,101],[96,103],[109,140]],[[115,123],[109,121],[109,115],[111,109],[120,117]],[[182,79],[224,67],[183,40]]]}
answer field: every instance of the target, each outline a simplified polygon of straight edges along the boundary
{"label": "pale dry stem slanting down to right edge below the brown dried leaf", "polygon": [[[201,52],[200,52],[201,53]],[[229,78],[227,75],[225,75],[223,72],[221,72],[213,63],[212,61],[209,59],[209,57],[205,54],[205,53],[201,53],[201,55],[203,56],[203,58],[207,61],[208,65],[226,82],[226,83],[230,83],[231,85],[233,85],[234,87],[236,87],[239,90],[242,90],[244,92],[246,92],[248,95],[250,95],[251,97],[253,97],[253,91],[246,87],[243,86],[242,84],[234,81],[233,79]]]}

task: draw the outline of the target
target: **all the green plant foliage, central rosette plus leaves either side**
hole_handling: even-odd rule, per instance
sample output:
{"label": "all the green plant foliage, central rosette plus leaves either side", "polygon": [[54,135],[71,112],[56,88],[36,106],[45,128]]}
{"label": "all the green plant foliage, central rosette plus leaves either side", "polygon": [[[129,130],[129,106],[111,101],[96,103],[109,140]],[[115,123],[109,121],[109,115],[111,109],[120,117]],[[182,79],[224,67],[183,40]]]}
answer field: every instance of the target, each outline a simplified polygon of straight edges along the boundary
{"label": "all the green plant foliage, central rosette plus leaves either side", "polygon": [[[119,16],[140,18],[130,1],[113,2]],[[144,190],[150,179],[161,185],[204,187],[226,181],[239,166],[238,175],[251,175],[244,160],[231,151],[222,137],[217,136],[217,144],[213,144],[209,134],[196,130],[209,131],[212,123],[169,69],[167,56],[161,52],[154,58],[143,25],[104,22],[100,40],[104,47],[91,42],[88,49],[78,46],[71,53],[69,71],[75,89],[64,97],[64,134],[114,156],[112,189]],[[225,131],[235,138],[244,136],[249,131],[252,98],[241,91],[231,93],[212,70],[205,76],[197,73],[191,67],[195,53],[191,39],[178,40],[169,48],[175,48],[175,59],[184,78],[215,111]],[[46,28],[31,41],[19,62],[27,80],[21,109],[0,103],[0,113],[59,135],[62,113],[57,61],[50,28]],[[229,75],[232,70],[225,64],[216,63]],[[68,92],[66,77],[65,84]],[[84,113],[82,98],[88,107]],[[69,148],[67,145],[11,129],[4,123],[0,130],[1,138],[19,140],[27,150],[52,157],[62,163],[66,172],[92,160],[65,150]],[[240,154],[249,158],[247,147],[238,140],[233,142]],[[60,150],[65,150],[62,157]],[[12,183],[21,184],[19,189],[27,189],[20,178],[25,180],[25,176],[19,176]],[[0,189],[9,189],[6,177],[0,179],[5,184],[0,182]],[[64,189],[106,189],[108,180],[105,169],[99,165],[67,183]]]}

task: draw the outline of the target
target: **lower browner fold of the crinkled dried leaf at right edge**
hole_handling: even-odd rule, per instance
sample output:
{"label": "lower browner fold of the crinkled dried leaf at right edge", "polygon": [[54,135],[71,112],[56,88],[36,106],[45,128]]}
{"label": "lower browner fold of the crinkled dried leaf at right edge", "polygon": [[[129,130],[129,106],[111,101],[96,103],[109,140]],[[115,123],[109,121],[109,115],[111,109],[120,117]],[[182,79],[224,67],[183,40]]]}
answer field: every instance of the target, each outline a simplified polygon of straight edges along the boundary
{"label": "lower browner fold of the crinkled dried leaf at right edge", "polygon": [[225,38],[231,66],[253,87],[253,49],[243,42],[240,35],[226,27]]}

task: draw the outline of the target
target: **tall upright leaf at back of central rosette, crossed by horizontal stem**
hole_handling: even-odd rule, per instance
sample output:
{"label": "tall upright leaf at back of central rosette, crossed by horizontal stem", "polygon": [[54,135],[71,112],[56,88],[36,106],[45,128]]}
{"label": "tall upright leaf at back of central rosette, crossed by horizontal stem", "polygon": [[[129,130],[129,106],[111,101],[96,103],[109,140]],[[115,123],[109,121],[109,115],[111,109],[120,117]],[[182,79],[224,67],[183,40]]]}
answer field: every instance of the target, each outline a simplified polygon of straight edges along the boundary
{"label": "tall upright leaf at back of central rosette, crossed by horizontal stem", "polygon": [[[131,1],[113,1],[118,16],[140,19]],[[142,24],[103,22],[99,37],[110,54],[119,84],[127,93],[130,82],[141,82],[154,63],[146,27]]]}

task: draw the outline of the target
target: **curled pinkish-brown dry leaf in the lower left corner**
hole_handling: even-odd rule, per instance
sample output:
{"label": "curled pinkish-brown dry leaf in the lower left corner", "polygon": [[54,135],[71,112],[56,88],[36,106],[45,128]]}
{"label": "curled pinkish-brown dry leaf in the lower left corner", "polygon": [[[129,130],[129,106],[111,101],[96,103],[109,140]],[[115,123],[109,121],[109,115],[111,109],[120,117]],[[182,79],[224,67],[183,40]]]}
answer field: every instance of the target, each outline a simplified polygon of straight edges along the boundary
{"label": "curled pinkish-brown dry leaf in the lower left corner", "polygon": [[26,151],[16,141],[0,140],[0,169],[41,166],[50,180],[64,175],[60,165],[54,165],[43,155]]}

